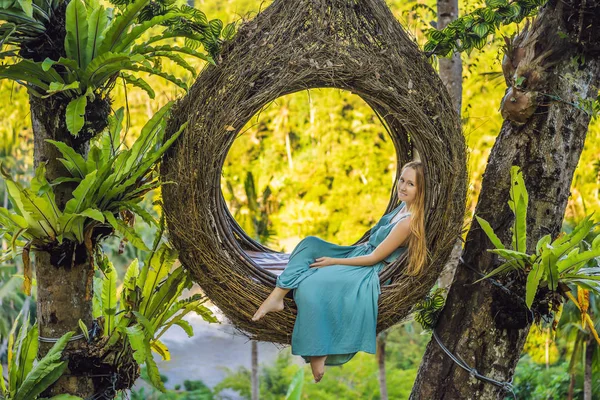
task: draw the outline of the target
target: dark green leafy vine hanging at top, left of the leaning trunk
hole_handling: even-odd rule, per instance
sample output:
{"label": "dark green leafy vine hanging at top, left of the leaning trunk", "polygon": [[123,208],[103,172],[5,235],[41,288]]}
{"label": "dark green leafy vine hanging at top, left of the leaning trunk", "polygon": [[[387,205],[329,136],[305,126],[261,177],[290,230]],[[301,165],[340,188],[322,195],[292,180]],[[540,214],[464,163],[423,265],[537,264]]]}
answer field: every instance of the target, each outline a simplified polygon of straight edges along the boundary
{"label": "dark green leafy vine hanging at top, left of the leaning trunk", "polygon": [[442,57],[454,51],[470,53],[474,48],[481,50],[488,36],[502,25],[521,22],[537,14],[547,0],[486,0],[485,7],[463,15],[450,22],[442,30],[427,31],[424,51]]}

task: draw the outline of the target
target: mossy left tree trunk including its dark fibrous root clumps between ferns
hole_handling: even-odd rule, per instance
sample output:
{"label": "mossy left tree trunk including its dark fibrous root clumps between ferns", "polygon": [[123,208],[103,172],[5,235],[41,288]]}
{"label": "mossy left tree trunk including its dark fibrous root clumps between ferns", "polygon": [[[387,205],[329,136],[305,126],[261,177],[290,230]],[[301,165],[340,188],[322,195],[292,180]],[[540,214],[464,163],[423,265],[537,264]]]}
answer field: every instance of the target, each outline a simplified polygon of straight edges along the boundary
{"label": "mossy left tree trunk including its dark fibrous root clumps between ferns", "polygon": [[[66,129],[66,102],[53,99],[30,97],[31,120],[34,134],[34,167],[46,163],[46,178],[70,176],[62,163],[58,149],[46,142],[57,140],[71,146],[84,156],[89,149],[89,139],[104,129],[108,122],[110,105],[98,98],[88,107],[93,115],[86,114],[88,122],[77,137]],[[56,203],[63,210],[72,197],[76,184],[63,183],[54,186]],[[58,339],[69,331],[81,333],[81,319],[88,328],[92,327],[92,278],[94,267],[84,244],[64,240],[34,252],[37,280],[37,316],[40,338]],[[43,357],[53,343],[40,340],[38,356]],[[68,368],[63,376],[44,395],[47,397],[68,393],[86,398],[103,386],[103,378],[92,377],[94,366],[87,360],[88,346],[84,339],[74,340],[63,351],[68,359]],[[88,365],[89,364],[89,365]]]}

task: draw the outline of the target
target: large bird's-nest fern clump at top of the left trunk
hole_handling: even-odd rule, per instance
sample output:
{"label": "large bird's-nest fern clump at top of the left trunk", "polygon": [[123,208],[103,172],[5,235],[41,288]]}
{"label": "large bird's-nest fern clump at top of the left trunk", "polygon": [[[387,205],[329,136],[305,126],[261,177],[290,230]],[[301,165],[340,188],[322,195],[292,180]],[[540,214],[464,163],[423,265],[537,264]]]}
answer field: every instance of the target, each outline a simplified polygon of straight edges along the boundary
{"label": "large bird's-nest fern clump at top of the left trunk", "polygon": [[[11,8],[16,3],[8,3],[0,3],[0,21],[8,18],[7,9],[12,10],[10,13],[16,12]],[[154,97],[153,90],[144,79],[131,76],[126,71],[156,75],[187,90],[183,81],[162,69],[161,60],[172,60],[195,77],[196,70],[179,54],[214,63],[213,57],[218,55],[223,42],[221,33],[231,38],[234,25],[223,30],[221,21],[208,21],[204,13],[194,8],[166,5],[153,9],[153,4],[150,0],[128,2],[113,17],[114,10],[105,9],[98,0],[71,0],[66,8],[66,57],[36,62],[20,59],[16,53],[0,53],[0,60],[7,57],[17,60],[13,64],[0,65],[0,79],[14,80],[35,96],[59,96],[68,100],[67,128],[75,136],[84,126],[88,100],[92,101],[96,96],[106,97],[119,77],[144,88],[150,97]],[[43,4],[42,8],[46,6],[52,5]],[[19,12],[25,13],[25,10]],[[0,34],[5,32],[5,40],[16,34],[17,28],[33,24],[31,15],[20,24],[19,18],[13,14],[10,14],[10,19],[5,19],[7,23],[0,25]],[[35,38],[45,30],[44,25],[38,25],[34,24],[41,32]],[[160,26],[165,28],[160,35],[141,40],[145,33]],[[14,38],[17,39],[17,36]],[[185,38],[186,46],[173,45],[177,38]],[[163,40],[170,42],[156,46]],[[27,40],[19,37],[11,43],[18,50],[23,42]],[[210,56],[195,50],[198,43],[204,45]]]}

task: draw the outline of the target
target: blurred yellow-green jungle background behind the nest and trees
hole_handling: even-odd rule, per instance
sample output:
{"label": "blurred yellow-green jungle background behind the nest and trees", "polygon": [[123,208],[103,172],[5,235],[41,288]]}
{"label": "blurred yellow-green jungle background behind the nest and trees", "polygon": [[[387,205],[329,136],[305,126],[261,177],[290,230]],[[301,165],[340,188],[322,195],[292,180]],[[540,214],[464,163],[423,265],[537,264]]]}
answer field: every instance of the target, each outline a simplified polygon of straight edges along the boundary
{"label": "blurred yellow-green jungle background behind the nest and trees", "polygon": [[[459,2],[461,13],[483,2]],[[424,32],[436,20],[434,1],[388,1],[399,21],[422,46]],[[209,16],[225,23],[250,18],[268,2],[249,0],[195,2]],[[501,73],[502,35],[510,36],[521,27],[501,29],[483,48],[463,54],[462,123],[468,146],[469,192],[467,209],[472,211],[479,194],[481,175],[491,146],[500,131],[498,112],[505,85]],[[434,59],[435,61],[435,59]],[[195,63],[198,69],[202,62]],[[187,76],[176,64],[167,71]],[[134,132],[162,105],[175,100],[182,91],[160,78],[148,77],[156,91],[149,101],[145,92],[116,88],[117,109],[127,105],[129,129],[125,142],[133,143]],[[418,88],[417,88],[418,89]],[[13,177],[27,182],[33,176],[33,138],[26,90],[12,82],[0,81],[0,161]],[[127,101],[125,100],[127,96]],[[395,152],[385,130],[372,110],[352,93],[327,89],[300,92],[278,99],[252,118],[230,150],[223,169],[222,190],[229,209],[251,236],[269,247],[291,251],[307,235],[316,235],[339,244],[353,243],[383,214],[396,169]],[[584,151],[570,188],[563,230],[569,231],[585,216],[600,210],[600,121],[590,125]],[[153,201],[158,191],[147,195],[148,211],[156,213]],[[8,197],[0,185],[0,201]],[[466,224],[470,223],[465,221]],[[138,233],[151,242],[154,230],[139,222]],[[2,246],[8,246],[3,242]],[[143,252],[127,245],[119,251],[117,239],[104,245],[119,278],[134,257]],[[0,266],[0,360],[6,362],[7,336],[20,310],[35,316],[35,290],[26,297],[21,290],[20,260]],[[193,290],[200,291],[195,287]],[[600,300],[591,296],[590,308],[596,329],[600,329]],[[564,318],[555,338],[549,329],[532,329],[514,377],[517,398],[567,398],[574,385],[575,398],[581,394],[583,354],[574,306],[565,306]],[[218,315],[218,310],[214,309]],[[132,399],[251,398],[250,342],[236,333],[227,321],[208,324],[190,316],[196,334],[169,332],[172,359],[160,362],[159,369],[169,392],[161,394],[143,382],[128,394]],[[222,320],[222,318],[220,318]],[[178,328],[173,328],[176,331]],[[389,330],[386,337],[386,376],[391,399],[408,398],[417,368],[430,334],[423,334],[409,321]],[[203,340],[206,339],[206,340]],[[212,339],[209,339],[212,338]],[[217,340],[219,338],[221,340]],[[157,361],[159,357],[157,356]],[[360,353],[341,368],[328,368],[323,381],[315,385],[310,369],[289,348],[279,351],[268,343],[259,346],[260,398],[284,398],[293,376],[305,369],[303,398],[378,399],[378,366],[374,355]],[[596,348],[593,374],[600,374],[600,351]],[[5,369],[6,370],[6,369]],[[574,377],[572,380],[571,377]],[[596,378],[594,398],[600,399]]]}

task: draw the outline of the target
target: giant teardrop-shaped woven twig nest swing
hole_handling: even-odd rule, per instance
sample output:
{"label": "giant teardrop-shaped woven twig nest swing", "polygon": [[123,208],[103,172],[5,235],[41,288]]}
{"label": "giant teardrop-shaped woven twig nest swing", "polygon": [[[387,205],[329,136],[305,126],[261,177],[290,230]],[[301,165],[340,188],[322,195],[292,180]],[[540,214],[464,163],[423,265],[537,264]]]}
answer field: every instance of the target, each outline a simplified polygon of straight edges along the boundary
{"label": "giant teardrop-shaped woven twig nest swing", "polygon": [[[287,344],[295,303],[258,323],[251,317],[276,275],[245,250],[272,252],[231,217],[221,169],[239,131],[278,97],[338,88],[369,104],[392,138],[398,168],[425,163],[426,235],[432,255],[417,277],[403,274],[405,255],[381,274],[378,332],[407,317],[429,292],[462,229],[466,151],[458,116],[438,75],[383,0],[275,0],[224,45],[178,102],[168,132],[189,125],[166,155],[161,174],[170,239],[207,296],[251,339]],[[397,205],[396,190],[388,211]],[[357,242],[362,243],[367,236]],[[390,285],[383,282],[392,279]]]}

